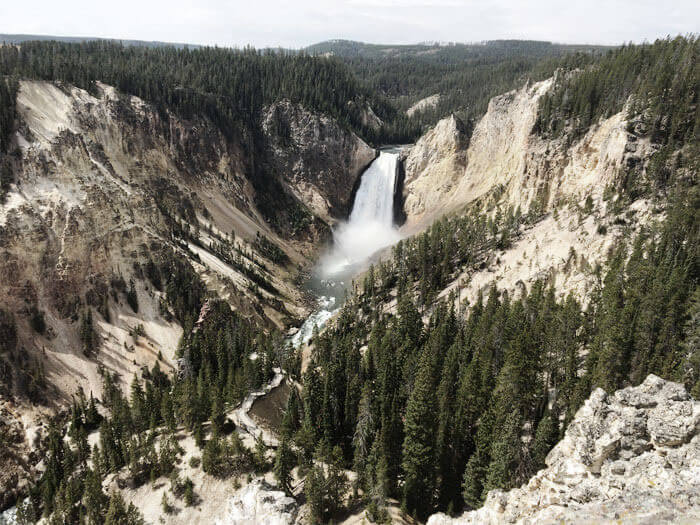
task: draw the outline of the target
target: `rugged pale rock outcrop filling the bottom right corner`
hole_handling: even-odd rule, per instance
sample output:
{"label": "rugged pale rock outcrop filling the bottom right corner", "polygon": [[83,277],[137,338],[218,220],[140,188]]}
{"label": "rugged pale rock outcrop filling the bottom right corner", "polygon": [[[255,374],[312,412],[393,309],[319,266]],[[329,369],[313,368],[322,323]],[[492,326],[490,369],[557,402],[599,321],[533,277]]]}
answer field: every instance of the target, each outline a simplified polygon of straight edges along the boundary
{"label": "rugged pale rock outcrop filling the bottom right corner", "polygon": [[650,375],[578,411],[547,468],[484,506],[428,525],[700,522],[700,402]]}

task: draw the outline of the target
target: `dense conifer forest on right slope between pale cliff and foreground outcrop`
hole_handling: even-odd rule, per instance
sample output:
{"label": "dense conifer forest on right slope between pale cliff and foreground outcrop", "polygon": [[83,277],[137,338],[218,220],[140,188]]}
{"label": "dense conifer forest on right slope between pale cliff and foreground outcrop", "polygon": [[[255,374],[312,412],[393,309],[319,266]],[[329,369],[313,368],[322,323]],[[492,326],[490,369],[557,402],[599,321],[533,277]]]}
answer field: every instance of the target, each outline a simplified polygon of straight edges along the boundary
{"label": "dense conifer forest on right slope between pale cliff and foreground outcrop", "polygon": [[[340,447],[367,503],[380,488],[425,518],[527,480],[593,388],[656,373],[697,389],[684,341],[697,309],[700,194],[675,195],[660,228],[611,254],[586,308],[546,282],[517,300],[492,287],[463,314],[454,297],[426,303],[464,254],[498,241],[503,227],[489,232],[483,219],[446,220],[397,246],[316,337],[296,444]],[[463,239],[478,244],[462,250]],[[397,313],[381,313],[392,289]]]}

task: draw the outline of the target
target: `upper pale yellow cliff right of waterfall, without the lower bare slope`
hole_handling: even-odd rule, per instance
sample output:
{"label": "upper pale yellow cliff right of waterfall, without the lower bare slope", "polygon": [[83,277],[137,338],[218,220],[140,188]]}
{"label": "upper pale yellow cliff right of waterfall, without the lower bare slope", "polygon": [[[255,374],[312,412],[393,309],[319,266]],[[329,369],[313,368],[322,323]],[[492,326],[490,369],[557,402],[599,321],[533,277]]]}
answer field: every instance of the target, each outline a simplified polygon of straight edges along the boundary
{"label": "upper pale yellow cliff right of waterfall, without the lower bare slope", "polygon": [[496,200],[522,211],[589,194],[600,197],[622,166],[653,151],[627,129],[624,112],[602,120],[573,144],[537,136],[538,102],[552,85],[549,79],[494,97],[470,140],[455,117],[424,135],[405,162],[407,225],[429,222],[495,190]]}

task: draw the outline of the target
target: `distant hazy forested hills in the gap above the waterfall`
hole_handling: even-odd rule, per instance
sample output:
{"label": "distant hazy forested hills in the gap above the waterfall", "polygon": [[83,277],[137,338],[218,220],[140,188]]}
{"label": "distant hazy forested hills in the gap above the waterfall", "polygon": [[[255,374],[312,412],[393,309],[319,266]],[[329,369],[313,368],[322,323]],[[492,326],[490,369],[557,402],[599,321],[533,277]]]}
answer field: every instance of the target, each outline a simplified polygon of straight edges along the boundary
{"label": "distant hazy forested hills in the gap above the waterfall", "polygon": [[[405,46],[340,40],[307,51],[340,57],[365,86],[384,95],[400,111],[390,123],[393,135],[399,142],[411,142],[416,133],[450,113],[465,122],[475,120],[492,97],[528,80],[543,80],[561,65],[589,63],[604,49],[524,40]],[[441,96],[434,108],[410,119],[403,116],[417,101],[434,94]]]}

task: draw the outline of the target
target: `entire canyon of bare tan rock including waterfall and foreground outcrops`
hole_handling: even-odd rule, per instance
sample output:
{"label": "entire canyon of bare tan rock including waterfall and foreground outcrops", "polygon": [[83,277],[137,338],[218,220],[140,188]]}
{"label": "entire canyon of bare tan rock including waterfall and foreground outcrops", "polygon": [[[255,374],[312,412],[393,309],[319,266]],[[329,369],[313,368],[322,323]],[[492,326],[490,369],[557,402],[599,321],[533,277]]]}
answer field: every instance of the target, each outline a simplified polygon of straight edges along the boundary
{"label": "entire canyon of bare tan rock including waterfall and foreground outcrops", "polygon": [[[262,106],[250,128],[260,135],[251,139],[242,125],[226,134],[204,116],[185,118],[102,82],[84,90],[22,80],[7,156],[14,179],[0,204],[0,350],[10,360],[0,367],[0,430],[8,443],[0,459],[0,508],[21,500],[45,471],[38,446],[53,416],[65,423],[77,392],[101,399],[105,373],[114,374],[125,392],[133,378],[145,381],[151,370],[186,377],[191,363],[183,355],[199,342],[198,330],[215,322],[211,312],[219,301],[275,334],[270,344],[277,354],[299,361],[295,373],[266,362],[270,374],[260,389],[235,406],[224,409],[222,401],[217,407],[227,432],[246,450],[260,447],[262,462],[274,464],[284,407],[305,395],[308,377],[321,374],[313,360],[319,332],[348,325],[346,301],[360,305],[361,322],[384,326],[382,316],[401,308],[402,284],[413,283],[385,277],[382,290],[368,299],[375,270],[387,274],[397,245],[455,217],[479,217],[494,232],[503,217],[516,226],[507,242],[494,233],[489,250],[450,268],[430,304],[416,310],[418,333],[434,328],[431,315],[440,308],[461,313],[481,304],[489,290],[502,293],[504,304],[526,302],[528,292],[545,283],[557,300],[592,302],[611,253],[646,239],[668,217],[654,195],[625,200],[615,189],[630,170],[644,180],[661,147],[628,106],[573,139],[539,133],[541,101],[560,74],[492,98],[475,121],[449,115],[401,146],[374,144],[338,115],[287,98]],[[422,99],[408,114],[440,100],[439,94]],[[382,129],[365,100],[345,105],[360,108],[362,129]],[[679,168],[688,177],[692,169]],[[169,302],[172,290],[160,277],[186,275],[185,266],[203,283],[194,318]],[[409,290],[417,293],[418,286]],[[220,342],[223,334],[216,334]],[[377,343],[365,335],[353,341],[357,348],[347,363],[374,370],[379,365],[369,348]],[[581,360],[586,351],[573,350]],[[243,359],[263,367],[257,352]],[[403,366],[421,370],[423,364],[416,358]],[[679,383],[645,377],[638,386],[587,395],[546,466],[525,485],[491,490],[482,508],[434,514],[427,523],[700,520],[700,403]],[[359,398],[362,385],[351,386]],[[414,386],[401,396],[411,397]],[[319,388],[326,395],[331,387]],[[553,405],[556,388],[544,392]],[[547,403],[538,410],[549,410]],[[211,419],[198,432],[213,436]],[[562,421],[564,415],[557,424]],[[535,429],[526,426],[523,434],[529,444]],[[201,501],[173,504],[170,522],[311,519],[299,467],[290,475],[291,489],[276,484],[270,469],[222,479],[198,467],[203,447],[194,432],[178,426],[173,435],[183,449],[178,468],[194,480]],[[98,439],[93,429],[88,441]],[[309,465],[330,468],[325,459]],[[360,472],[349,469],[341,474],[356,480]],[[161,498],[167,499],[165,481],[130,486],[126,470],[110,472],[102,487],[156,522]],[[340,497],[349,505],[344,523],[374,520],[353,499],[358,489],[350,492],[346,487]],[[420,521],[396,500],[383,505],[389,520]]]}

